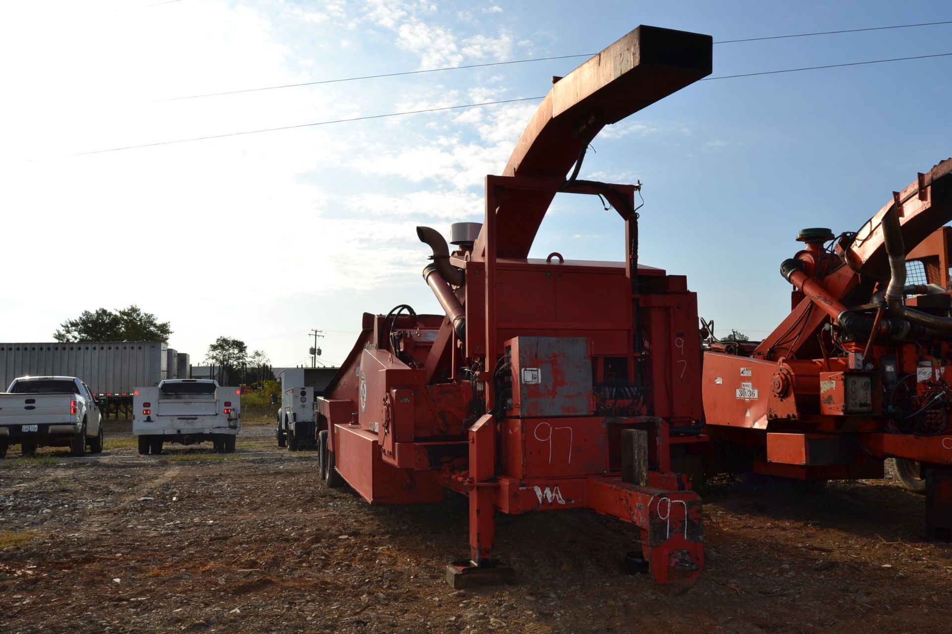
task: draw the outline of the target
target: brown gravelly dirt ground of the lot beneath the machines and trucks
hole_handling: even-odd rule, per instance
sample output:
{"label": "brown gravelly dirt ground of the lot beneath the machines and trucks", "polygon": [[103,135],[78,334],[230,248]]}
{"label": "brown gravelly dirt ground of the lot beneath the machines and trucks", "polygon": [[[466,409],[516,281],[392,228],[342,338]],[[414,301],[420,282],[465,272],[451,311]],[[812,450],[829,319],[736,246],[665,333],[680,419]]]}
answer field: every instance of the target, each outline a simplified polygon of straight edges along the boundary
{"label": "brown gravelly dirt ground of the lot beneath the machines and trucks", "polygon": [[101,456],[0,460],[0,631],[952,630],[952,547],[923,539],[922,497],[889,482],[715,483],[704,573],[674,597],[623,572],[628,525],[500,515],[516,583],[453,590],[465,498],[368,507],[265,424],[226,456],[133,445],[114,430]]}

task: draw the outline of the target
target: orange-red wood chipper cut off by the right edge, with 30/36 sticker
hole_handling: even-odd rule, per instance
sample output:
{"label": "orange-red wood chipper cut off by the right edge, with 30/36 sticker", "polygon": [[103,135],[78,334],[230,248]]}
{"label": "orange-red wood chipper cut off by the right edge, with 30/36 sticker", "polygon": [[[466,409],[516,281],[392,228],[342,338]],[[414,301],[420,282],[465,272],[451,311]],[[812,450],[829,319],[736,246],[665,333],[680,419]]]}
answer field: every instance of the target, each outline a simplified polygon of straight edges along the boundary
{"label": "orange-red wood chipper cut off by the right edge, with 30/36 sticker", "polygon": [[[855,233],[800,233],[805,248],[781,264],[790,315],[746,351],[712,342],[704,353],[713,471],[878,478],[895,457],[922,465],[926,534],[952,540],[952,289],[936,233],[948,221],[952,159]],[[906,259],[938,283],[907,283]]]}

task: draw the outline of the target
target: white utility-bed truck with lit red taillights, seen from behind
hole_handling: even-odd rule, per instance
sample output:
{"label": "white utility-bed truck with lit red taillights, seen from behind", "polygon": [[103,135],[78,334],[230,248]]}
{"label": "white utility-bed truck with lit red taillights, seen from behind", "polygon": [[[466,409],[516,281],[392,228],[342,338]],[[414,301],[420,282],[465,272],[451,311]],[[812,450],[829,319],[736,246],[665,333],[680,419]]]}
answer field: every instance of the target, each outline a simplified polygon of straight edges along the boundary
{"label": "white utility-bed truck with lit red taillights, seen from behind", "polygon": [[167,379],[132,394],[132,433],[139,453],[161,453],[166,442],[210,440],[215,451],[235,451],[241,431],[241,390],[202,378]]}

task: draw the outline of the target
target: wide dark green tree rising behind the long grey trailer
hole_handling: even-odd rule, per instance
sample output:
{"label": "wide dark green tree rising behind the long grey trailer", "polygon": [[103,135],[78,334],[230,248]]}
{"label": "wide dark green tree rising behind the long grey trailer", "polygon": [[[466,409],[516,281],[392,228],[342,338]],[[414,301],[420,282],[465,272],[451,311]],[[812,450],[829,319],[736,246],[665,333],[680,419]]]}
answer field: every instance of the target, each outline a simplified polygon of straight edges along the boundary
{"label": "wide dark green tree rising behind the long grey trailer", "polygon": [[168,321],[159,322],[151,313],[144,313],[135,304],[117,311],[97,308],[95,313],[83,311],[75,319],[60,324],[53,333],[57,341],[169,341],[172,334]]}

